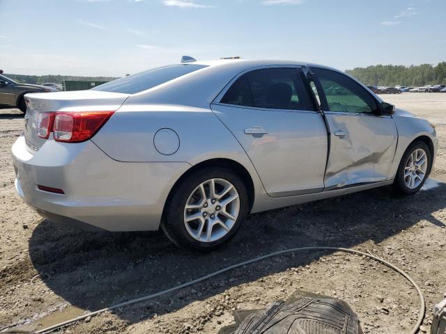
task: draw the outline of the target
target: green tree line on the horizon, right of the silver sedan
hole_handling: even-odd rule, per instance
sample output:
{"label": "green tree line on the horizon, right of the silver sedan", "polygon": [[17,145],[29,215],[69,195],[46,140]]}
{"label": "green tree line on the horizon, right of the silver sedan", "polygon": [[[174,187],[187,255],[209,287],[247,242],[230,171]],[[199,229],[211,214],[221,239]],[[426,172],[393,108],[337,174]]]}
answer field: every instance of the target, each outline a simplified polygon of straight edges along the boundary
{"label": "green tree line on the horizon, right of the silver sedan", "polygon": [[346,70],[368,86],[424,86],[446,84],[446,62],[422,65],[373,65]]}

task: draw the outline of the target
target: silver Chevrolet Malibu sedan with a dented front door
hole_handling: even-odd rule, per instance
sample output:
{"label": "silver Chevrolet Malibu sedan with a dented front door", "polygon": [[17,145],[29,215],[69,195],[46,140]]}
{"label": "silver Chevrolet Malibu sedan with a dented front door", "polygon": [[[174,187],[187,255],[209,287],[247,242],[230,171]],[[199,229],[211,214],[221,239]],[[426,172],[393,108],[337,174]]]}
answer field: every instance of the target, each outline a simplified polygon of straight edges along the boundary
{"label": "silver Chevrolet Malibu sedan with a dented front door", "polygon": [[23,200],[86,230],[162,228],[212,250],[249,212],[391,186],[420,190],[438,139],[330,67],[195,61],[91,90],[26,95],[12,148]]}

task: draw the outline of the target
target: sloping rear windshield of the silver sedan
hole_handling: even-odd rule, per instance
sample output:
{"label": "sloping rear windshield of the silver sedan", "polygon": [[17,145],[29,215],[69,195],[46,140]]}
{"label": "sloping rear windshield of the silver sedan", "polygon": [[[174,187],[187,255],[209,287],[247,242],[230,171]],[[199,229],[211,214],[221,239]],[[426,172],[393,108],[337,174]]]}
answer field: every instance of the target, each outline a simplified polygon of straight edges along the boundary
{"label": "sloping rear windshield of the silver sedan", "polygon": [[91,90],[101,90],[104,92],[134,94],[143,90],[153,88],[164,82],[176,79],[187,73],[200,70],[206,65],[178,64],[164,67],[157,67],[145,72],[129,75],[121,79],[107,82]]}

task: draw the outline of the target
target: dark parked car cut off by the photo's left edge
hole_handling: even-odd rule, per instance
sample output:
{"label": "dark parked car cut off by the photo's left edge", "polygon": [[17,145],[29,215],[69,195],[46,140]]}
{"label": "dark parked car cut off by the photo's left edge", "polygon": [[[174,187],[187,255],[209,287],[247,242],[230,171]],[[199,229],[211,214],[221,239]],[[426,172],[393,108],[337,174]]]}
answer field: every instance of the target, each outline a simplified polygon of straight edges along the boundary
{"label": "dark parked car cut off by the photo's left edge", "polygon": [[22,113],[26,112],[24,95],[26,93],[56,92],[52,87],[40,85],[19,84],[0,74],[0,106],[6,108],[18,108]]}

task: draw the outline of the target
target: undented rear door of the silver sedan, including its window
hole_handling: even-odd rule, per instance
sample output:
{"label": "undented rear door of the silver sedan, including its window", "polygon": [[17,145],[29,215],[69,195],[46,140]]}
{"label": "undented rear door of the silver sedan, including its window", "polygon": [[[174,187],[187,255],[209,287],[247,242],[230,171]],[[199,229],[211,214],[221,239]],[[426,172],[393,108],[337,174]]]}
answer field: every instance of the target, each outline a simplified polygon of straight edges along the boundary
{"label": "undented rear door of the silver sedan, including its window", "polygon": [[323,190],[328,138],[300,67],[265,67],[233,79],[211,105],[273,197]]}

